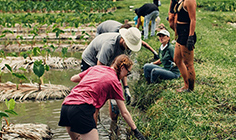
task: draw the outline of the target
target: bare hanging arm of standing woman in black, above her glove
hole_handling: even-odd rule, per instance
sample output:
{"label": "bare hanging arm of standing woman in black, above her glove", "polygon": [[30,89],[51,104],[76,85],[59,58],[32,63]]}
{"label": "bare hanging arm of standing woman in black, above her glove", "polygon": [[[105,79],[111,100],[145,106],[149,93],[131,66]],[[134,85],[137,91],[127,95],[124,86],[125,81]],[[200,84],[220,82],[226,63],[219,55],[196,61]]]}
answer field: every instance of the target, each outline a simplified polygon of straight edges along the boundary
{"label": "bare hanging arm of standing woman in black, above her glove", "polygon": [[189,36],[192,36],[194,35],[196,27],[196,7],[197,7],[196,0],[186,0],[184,6],[189,13],[189,18],[190,18]]}

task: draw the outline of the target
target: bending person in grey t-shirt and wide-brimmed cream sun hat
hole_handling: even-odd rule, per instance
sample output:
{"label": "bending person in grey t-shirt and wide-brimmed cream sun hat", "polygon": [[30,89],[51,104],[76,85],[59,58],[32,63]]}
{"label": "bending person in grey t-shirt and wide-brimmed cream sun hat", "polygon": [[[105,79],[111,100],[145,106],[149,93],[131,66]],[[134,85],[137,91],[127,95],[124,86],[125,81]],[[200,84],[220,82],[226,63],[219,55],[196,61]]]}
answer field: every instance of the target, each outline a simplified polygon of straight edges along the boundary
{"label": "bending person in grey t-shirt and wide-brimmed cream sun hat", "polygon": [[[103,33],[96,36],[82,53],[81,71],[95,65],[110,66],[114,58],[120,54],[130,54],[141,49],[141,33],[136,27],[122,28],[119,33]],[[127,83],[127,77],[122,79],[126,103],[129,104],[131,95]],[[111,103],[114,103],[113,105]],[[115,109],[116,103],[109,103],[111,119],[116,122],[119,110]],[[114,107],[114,108],[111,108]],[[96,112],[98,113],[98,112]],[[95,121],[97,119],[95,118]]]}

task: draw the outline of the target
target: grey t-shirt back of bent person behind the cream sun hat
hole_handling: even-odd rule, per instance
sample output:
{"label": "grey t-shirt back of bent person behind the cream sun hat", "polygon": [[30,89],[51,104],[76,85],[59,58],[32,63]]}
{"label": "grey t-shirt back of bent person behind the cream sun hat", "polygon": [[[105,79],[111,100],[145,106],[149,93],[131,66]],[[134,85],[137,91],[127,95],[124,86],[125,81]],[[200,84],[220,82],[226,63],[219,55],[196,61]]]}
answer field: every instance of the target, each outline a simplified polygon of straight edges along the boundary
{"label": "grey t-shirt back of bent person behind the cream sun hat", "polygon": [[107,32],[119,32],[122,24],[115,20],[107,20],[97,26],[97,35]]}

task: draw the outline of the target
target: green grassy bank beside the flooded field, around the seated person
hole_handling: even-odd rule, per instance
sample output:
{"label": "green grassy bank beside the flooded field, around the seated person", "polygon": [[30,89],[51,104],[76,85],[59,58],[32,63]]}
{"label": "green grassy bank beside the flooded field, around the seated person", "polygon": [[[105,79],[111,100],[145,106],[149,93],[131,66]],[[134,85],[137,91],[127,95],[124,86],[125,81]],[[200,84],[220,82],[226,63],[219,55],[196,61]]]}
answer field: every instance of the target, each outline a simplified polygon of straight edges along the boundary
{"label": "green grassy bank beside the flooded field, around the seated person", "polygon": [[[117,1],[118,9],[106,18],[120,22],[133,20],[135,14],[128,7],[138,8],[145,2],[152,1]],[[198,5],[205,2],[199,0]],[[161,0],[161,3],[161,23],[167,26],[173,40],[174,32],[166,21],[169,0]],[[197,8],[194,92],[175,91],[183,85],[182,78],[147,85],[142,66],[151,62],[153,55],[145,48],[137,53],[139,67],[136,70],[141,78],[131,83],[133,103],[138,103],[136,106],[146,115],[137,115],[134,119],[147,139],[236,138],[236,28],[229,24],[235,23],[236,18],[235,11],[222,11]],[[147,42],[156,50],[160,46],[157,37]]]}

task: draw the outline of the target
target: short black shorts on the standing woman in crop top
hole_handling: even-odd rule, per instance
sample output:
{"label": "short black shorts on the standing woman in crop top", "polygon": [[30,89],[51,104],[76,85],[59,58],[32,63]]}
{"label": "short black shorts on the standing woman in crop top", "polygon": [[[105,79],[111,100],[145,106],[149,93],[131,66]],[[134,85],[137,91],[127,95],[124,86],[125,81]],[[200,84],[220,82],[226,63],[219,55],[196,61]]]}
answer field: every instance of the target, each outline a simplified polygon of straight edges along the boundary
{"label": "short black shorts on the standing woman in crop top", "polygon": [[[189,35],[189,24],[178,24],[177,23],[177,34],[178,34],[178,39],[177,42],[180,45],[186,45],[187,40],[188,40],[188,35]],[[197,41],[197,36],[196,33],[194,32],[194,44]]]}

